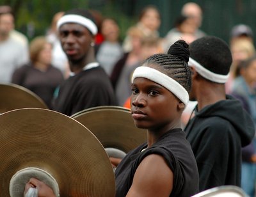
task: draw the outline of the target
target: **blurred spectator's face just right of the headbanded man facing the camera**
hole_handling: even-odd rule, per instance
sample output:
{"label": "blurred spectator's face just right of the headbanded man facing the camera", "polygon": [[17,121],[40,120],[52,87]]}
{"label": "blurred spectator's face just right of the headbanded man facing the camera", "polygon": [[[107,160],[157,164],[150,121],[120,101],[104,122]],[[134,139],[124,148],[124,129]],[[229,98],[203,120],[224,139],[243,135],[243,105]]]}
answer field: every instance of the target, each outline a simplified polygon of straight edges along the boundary
{"label": "blurred spectator's face just right of the headbanded man facing the camera", "polygon": [[117,42],[119,36],[119,28],[114,20],[106,19],[102,22],[101,33],[105,40],[109,42]]}

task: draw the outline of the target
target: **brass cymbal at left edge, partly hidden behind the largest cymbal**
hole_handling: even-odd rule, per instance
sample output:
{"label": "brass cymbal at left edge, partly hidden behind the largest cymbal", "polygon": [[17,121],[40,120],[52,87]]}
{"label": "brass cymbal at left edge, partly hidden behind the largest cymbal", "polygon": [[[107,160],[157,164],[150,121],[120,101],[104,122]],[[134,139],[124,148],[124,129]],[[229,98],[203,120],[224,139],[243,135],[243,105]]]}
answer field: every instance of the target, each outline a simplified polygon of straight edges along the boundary
{"label": "brass cymbal at left edge, partly hidden behind the largest cymbal", "polygon": [[48,109],[38,95],[17,84],[0,84],[0,113],[13,109],[35,107]]}

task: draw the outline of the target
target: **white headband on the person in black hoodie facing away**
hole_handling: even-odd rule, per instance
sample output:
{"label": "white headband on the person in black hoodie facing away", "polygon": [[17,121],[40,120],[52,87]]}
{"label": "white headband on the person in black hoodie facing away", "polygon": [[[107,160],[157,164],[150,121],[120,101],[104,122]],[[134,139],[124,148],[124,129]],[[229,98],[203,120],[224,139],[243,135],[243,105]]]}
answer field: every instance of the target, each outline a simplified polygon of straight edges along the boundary
{"label": "white headband on the person in black hoodie facing away", "polygon": [[202,75],[202,77],[205,77],[205,79],[208,79],[208,80],[216,82],[216,83],[226,83],[227,82],[228,74],[220,75],[220,74],[211,72],[210,70],[207,70],[202,65],[200,65],[200,63],[195,61],[195,59],[189,58],[188,65],[189,65],[189,67],[195,67],[196,72],[198,72],[200,75]]}

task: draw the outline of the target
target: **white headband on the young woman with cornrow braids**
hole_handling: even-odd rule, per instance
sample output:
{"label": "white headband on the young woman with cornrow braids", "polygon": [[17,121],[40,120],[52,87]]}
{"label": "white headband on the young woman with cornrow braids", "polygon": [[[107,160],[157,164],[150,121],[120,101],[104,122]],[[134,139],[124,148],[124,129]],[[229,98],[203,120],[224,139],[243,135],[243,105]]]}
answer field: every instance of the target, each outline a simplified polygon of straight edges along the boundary
{"label": "white headband on the young woman with cornrow braids", "polygon": [[186,91],[186,89],[183,88],[182,85],[177,83],[177,81],[175,81],[171,77],[168,77],[162,72],[159,72],[154,68],[141,66],[134,70],[134,73],[132,74],[132,83],[134,79],[137,77],[143,77],[160,84],[167,90],[171,91],[185,105],[188,104],[188,100],[189,100],[188,91]]}

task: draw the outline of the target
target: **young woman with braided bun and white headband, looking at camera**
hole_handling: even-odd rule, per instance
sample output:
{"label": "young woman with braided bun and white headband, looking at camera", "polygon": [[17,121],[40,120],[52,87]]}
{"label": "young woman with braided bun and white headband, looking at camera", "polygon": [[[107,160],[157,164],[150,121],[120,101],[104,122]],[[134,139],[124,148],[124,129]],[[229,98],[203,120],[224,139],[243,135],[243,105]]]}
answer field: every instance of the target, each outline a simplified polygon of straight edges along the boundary
{"label": "young woman with braided bun and white headband, looking at camera", "polygon": [[115,171],[116,196],[192,196],[198,170],[180,129],[188,103],[191,71],[188,44],[175,42],[168,54],[155,54],[132,75],[131,114],[148,139],[129,152]]}

